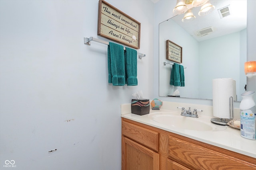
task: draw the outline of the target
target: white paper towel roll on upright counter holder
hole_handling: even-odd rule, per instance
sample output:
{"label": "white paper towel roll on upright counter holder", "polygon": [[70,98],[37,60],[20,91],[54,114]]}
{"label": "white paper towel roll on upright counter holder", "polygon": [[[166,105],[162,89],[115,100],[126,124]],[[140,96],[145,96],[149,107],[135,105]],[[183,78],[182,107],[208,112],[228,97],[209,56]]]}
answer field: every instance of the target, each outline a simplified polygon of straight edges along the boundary
{"label": "white paper towel roll on upright counter holder", "polygon": [[213,116],[230,119],[230,96],[234,97],[234,80],[232,78],[212,80]]}

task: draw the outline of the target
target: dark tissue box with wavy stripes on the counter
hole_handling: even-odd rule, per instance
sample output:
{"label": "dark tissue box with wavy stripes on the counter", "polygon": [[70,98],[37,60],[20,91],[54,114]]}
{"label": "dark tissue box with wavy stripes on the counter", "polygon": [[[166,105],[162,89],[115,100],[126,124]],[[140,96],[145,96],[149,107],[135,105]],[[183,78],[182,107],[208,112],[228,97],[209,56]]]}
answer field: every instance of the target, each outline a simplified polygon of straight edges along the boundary
{"label": "dark tissue box with wavy stripes on the counter", "polygon": [[136,115],[146,115],[150,110],[149,99],[132,99],[132,113]]}

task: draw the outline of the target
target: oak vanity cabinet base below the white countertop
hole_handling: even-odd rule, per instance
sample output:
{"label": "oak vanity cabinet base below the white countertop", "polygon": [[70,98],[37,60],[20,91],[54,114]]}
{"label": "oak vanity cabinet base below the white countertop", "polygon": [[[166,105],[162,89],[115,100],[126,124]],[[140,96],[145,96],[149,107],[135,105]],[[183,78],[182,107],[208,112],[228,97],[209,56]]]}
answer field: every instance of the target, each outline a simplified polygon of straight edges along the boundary
{"label": "oak vanity cabinet base below the white countertop", "polygon": [[122,170],[255,170],[256,158],[122,118]]}

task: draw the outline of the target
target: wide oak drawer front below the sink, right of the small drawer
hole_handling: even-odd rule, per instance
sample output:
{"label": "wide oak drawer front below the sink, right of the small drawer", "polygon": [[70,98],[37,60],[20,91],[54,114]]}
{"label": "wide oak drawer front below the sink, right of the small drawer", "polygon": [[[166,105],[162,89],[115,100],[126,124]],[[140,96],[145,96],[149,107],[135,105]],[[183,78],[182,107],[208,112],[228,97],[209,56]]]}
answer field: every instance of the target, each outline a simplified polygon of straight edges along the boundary
{"label": "wide oak drawer front below the sink, right of the small drawer", "polygon": [[255,164],[244,162],[211,149],[169,136],[168,156],[197,170],[252,170]]}

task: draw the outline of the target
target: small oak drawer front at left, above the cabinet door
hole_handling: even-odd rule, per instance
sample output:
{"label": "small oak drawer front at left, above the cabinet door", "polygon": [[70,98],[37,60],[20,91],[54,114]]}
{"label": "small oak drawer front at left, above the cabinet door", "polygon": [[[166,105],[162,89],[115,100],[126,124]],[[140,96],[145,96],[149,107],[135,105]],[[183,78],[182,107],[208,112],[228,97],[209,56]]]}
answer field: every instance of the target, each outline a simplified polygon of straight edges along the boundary
{"label": "small oak drawer front at left, above the cabinet door", "polygon": [[122,134],[150,149],[158,151],[159,133],[122,121]]}

